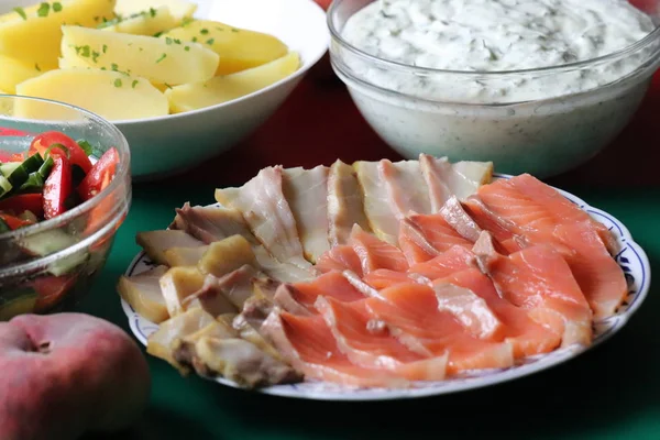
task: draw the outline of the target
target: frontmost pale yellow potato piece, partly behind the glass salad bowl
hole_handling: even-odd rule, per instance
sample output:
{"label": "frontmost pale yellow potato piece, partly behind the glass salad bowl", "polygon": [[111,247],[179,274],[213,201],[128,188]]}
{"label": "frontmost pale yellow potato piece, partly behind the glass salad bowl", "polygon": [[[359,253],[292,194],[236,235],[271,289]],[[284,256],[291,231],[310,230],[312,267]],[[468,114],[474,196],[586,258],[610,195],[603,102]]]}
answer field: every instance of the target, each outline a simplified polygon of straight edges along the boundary
{"label": "frontmost pale yellow potato piece, partly behind the glass salad bowl", "polygon": [[[109,120],[168,114],[167,99],[146,79],[96,69],[51,70],[16,86],[18,95],[68,102]],[[14,116],[51,119],[46,106],[19,101]]]}

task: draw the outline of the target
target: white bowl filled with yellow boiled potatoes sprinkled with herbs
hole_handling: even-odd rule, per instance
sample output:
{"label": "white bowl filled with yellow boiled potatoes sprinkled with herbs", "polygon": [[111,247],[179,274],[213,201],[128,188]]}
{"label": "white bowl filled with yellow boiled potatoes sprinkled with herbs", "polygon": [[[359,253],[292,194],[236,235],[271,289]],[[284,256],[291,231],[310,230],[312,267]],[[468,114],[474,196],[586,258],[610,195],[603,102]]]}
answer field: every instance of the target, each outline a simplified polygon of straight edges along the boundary
{"label": "white bowl filled with yellow boiled potatoes sprinkled with herbs", "polygon": [[[183,172],[251,134],[327,52],[314,0],[0,0],[0,95],[114,123],[134,179]],[[48,119],[43,107],[15,118]]]}

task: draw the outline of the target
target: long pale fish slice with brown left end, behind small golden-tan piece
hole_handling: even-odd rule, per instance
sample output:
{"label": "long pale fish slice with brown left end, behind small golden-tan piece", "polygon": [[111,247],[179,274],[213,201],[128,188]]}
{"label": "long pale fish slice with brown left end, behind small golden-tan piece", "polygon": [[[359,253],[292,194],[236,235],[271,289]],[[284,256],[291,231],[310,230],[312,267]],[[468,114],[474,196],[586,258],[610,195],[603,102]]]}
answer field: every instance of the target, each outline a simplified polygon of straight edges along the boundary
{"label": "long pale fish slice with brown left end, behind small golden-tan piece", "polygon": [[[232,194],[232,191],[229,191],[229,194]],[[258,267],[280,282],[295,283],[314,277],[314,272],[309,268],[304,270],[289,263],[276,261],[254,238],[250,227],[243,219],[243,215],[235,209],[190,207],[186,204],[184,208],[177,211],[174,227],[187,231],[206,244],[222,241],[235,234],[243,237],[252,244],[252,252],[254,252]],[[182,231],[177,232],[182,233]]]}

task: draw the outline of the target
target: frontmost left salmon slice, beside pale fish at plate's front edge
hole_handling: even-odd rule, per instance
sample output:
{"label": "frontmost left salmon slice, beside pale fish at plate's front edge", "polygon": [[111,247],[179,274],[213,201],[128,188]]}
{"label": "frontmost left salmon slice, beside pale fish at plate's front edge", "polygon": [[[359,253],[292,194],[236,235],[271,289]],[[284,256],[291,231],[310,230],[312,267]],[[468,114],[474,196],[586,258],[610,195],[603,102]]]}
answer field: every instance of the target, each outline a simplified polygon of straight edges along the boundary
{"label": "frontmost left salmon slice, beside pale fish at plate's front edge", "polygon": [[264,321],[262,331],[306,378],[348,386],[409,386],[408,381],[391,372],[353,364],[337,346],[321,316],[299,317],[274,310]]}

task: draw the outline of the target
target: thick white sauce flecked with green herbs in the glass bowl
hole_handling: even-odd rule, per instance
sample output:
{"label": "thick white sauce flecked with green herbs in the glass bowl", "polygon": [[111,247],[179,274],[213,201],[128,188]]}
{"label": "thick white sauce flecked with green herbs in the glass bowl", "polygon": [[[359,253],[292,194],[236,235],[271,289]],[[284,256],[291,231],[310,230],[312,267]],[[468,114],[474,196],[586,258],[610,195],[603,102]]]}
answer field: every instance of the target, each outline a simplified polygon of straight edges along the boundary
{"label": "thick white sauce flecked with green herbs in the glass bowl", "polygon": [[[342,35],[381,58],[418,67],[505,72],[587,61],[644,38],[654,24],[626,0],[377,0]],[[464,102],[516,102],[588,90],[638,67],[637,58],[560,76],[431,75],[353,66],[384,88]]]}

